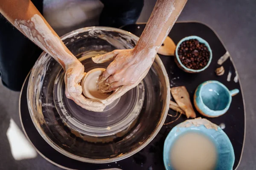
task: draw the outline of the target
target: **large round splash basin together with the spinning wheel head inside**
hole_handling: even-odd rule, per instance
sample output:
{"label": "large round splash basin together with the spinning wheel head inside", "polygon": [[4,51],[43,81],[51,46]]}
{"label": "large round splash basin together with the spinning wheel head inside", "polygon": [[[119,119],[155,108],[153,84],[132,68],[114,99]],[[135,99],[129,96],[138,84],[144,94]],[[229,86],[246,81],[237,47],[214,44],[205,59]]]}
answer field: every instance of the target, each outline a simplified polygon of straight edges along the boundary
{"label": "large round splash basin together with the spinning wheel head inside", "polygon": [[[62,37],[85,72],[107,68],[110,63],[96,64],[91,57],[131,49],[138,39],[108,27],[81,28]],[[29,77],[27,101],[32,122],[51,147],[72,159],[107,163],[137,153],[157,135],[169,110],[169,87],[166,69],[157,56],[137,87],[103,112],[87,111],[67,99],[63,69],[43,53]]]}

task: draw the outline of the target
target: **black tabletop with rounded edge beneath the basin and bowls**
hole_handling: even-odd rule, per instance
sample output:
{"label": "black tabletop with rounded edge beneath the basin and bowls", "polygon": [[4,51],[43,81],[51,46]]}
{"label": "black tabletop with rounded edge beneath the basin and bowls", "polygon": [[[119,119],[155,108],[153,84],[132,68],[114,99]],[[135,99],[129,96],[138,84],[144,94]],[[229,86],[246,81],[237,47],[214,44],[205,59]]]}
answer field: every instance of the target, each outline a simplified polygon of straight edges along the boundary
{"label": "black tabletop with rounded edge beneath the basin and bowls", "polygon": [[[138,27],[139,26],[139,27]],[[130,25],[125,26],[122,29],[125,29],[127,31],[130,31],[137,36],[140,36],[144,29],[145,25]],[[233,97],[232,103],[230,105],[229,111],[227,111],[226,114],[223,116],[220,116],[218,118],[211,118],[209,119],[213,123],[220,125],[221,123],[225,124],[225,133],[229,136],[233,147],[235,151],[235,164],[234,169],[237,167],[241,152],[242,152],[242,146],[244,142],[244,105],[243,105],[243,99],[241,94],[241,89],[239,83],[236,83],[233,81],[233,78],[235,77],[235,69],[233,67],[232,62],[230,59],[228,59],[226,62],[224,62],[223,66],[226,69],[226,72],[223,76],[217,77],[215,76],[214,70],[218,67],[217,60],[219,57],[221,57],[223,54],[225,54],[226,49],[221,44],[218,37],[215,35],[215,33],[208,28],[207,26],[201,24],[201,23],[176,23],[175,26],[172,28],[172,31],[169,34],[169,37],[174,40],[175,44],[182,39],[183,37],[189,36],[189,35],[197,35],[199,37],[204,38],[209,42],[209,45],[212,48],[212,62],[205,71],[199,73],[199,74],[189,74],[185,73],[180,68],[177,67],[177,65],[174,62],[174,57],[166,57],[166,56],[160,56],[162,59],[167,74],[169,75],[170,84],[171,86],[179,86],[179,85],[185,85],[187,90],[190,93],[191,99],[195,92],[195,89],[197,86],[204,81],[207,80],[218,80],[222,82],[224,85],[227,86],[227,88],[234,89],[238,88],[240,90],[240,93]],[[231,81],[227,82],[227,74],[228,71],[231,71],[233,76],[231,77]],[[84,169],[84,167],[87,167],[87,169],[96,170],[96,169],[104,169],[104,168],[122,168],[123,170],[140,170],[140,169],[152,169],[152,170],[161,170],[164,169],[163,167],[163,144],[164,140],[169,133],[169,131],[177,125],[180,122],[183,122],[186,120],[185,116],[181,116],[181,118],[171,124],[171,125],[164,125],[160,132],[157,134],[157,136],[153,139],[153,141],[148,144],[143,150],[141,150],[139,153],[135,154],[134,156],[131,156],[127,159],[124,159],[122,161],[113,162],[109,164],[88,164],[80,161],[76,161],[73,159],[70,159],[61,153],[58,153],[58,151],[54,150],[47,142],[44,141],[44,139],[40,136],[40,134],[35,129],[32,120],[29,115],[29,111],[26,104],[26,86],[27,82],[24,85],[22,96],[21,96],[21,118],[23,122],[24,129],[29,136],[29,139],[31,142],[35,145],[35,147],[48,159],[51,161],[54,161],[57,164],[60,164],[64,167],[69,167],[73,169]],[[175,114],[174,111],[169,111],[170,114]],[[197,116],[201,116],[199,113],[197,113]],[[203,116],[202,116],[203,117]],[[170,122],[174,120],[175,118],[168,117],[166,119],[166,122]]]}

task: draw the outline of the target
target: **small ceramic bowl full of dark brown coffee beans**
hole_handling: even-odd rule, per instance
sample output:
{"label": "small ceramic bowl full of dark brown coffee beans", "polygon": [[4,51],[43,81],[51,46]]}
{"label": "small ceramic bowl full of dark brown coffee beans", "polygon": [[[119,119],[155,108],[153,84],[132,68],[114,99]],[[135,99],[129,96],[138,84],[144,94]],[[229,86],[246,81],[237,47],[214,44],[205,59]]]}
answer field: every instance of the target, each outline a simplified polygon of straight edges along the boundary
{"label": "small ceramic bowl full of dark brown coffee beans", "polygon": [[208,42],[198,36],[185,37],[175,49],[175,62],[188,73],[204,71],[212,61],[212,50]]}

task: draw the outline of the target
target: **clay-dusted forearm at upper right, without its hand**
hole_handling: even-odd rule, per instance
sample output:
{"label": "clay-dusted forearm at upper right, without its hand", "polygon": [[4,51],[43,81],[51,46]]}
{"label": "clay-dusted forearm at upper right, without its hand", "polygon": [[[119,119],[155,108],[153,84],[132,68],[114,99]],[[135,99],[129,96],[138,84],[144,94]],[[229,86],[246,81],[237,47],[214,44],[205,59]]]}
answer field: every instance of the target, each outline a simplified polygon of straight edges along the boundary
{"label": "clay-dusted forearm at upper right, without its hand", "polygon": [[184,8],[186,1],[157,0],[135,51],[152,51],[156,54]]}

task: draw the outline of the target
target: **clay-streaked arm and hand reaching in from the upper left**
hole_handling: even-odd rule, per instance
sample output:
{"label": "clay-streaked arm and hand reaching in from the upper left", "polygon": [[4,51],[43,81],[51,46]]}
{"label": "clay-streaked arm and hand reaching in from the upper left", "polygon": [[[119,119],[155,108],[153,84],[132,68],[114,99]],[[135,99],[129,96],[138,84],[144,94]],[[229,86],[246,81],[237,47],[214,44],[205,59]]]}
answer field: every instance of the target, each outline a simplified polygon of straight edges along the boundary
{"label": "clay-streaked arm and hand reaching in from the upper left", "polygon": [[59,62],[65,73],[66,96],[82,108],[103,111],[105,105],[86,99],[79,85],[84,76],[84,66],[67,49],[60,37],[49,26],[30,0],[1,0],[0,12],[26,37]]}

